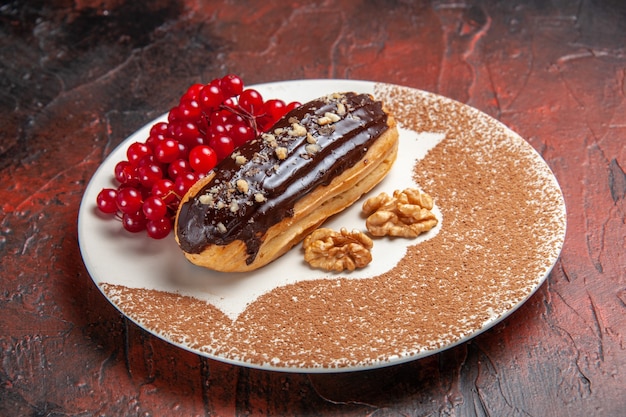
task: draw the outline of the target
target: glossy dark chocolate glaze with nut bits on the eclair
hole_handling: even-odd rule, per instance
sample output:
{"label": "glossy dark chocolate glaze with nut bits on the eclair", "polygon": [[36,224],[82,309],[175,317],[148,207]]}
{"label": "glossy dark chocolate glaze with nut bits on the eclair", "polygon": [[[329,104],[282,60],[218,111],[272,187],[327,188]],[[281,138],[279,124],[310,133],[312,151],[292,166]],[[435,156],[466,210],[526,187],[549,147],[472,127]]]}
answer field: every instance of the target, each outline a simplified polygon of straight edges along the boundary
{"label": "glossy dark chocolate glaze with nut bits on the eclair", "polygon": [[254,261],[265,232],[296,202],[352,167],[385,130],[387,114],[367,94],[332,94],[285,115],[270,132],[239,147],[180,208],[180,247],[246,244]]}

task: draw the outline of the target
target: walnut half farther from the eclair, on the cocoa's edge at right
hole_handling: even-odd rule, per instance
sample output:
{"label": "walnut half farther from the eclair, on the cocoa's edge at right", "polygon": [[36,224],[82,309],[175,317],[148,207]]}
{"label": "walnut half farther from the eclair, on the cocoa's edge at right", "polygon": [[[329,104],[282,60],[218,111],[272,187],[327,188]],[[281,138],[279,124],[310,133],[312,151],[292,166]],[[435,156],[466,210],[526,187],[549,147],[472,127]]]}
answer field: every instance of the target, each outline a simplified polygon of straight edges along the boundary
{"label": "walnut half farther from the eclair, on the cocoa's edge at right", "polygon": [[363,203],[365,226],[373,236],[414,238],[437,225],[432,208],[433,199],[413,188],[381,193]]}

